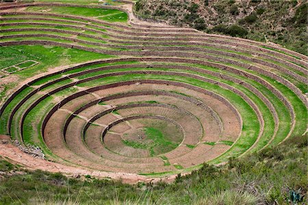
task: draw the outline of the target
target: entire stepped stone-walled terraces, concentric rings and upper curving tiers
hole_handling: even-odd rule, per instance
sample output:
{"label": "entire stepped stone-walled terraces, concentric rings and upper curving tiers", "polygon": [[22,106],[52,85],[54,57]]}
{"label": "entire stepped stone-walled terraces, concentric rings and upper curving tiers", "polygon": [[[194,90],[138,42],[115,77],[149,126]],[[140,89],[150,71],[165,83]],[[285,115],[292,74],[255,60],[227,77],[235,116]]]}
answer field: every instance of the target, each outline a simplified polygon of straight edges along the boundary
{"label": "entire stepped stone-walled terraces, concentric rings and upper curving tiers", "polygon": [[[51,68],[5,96],[0,134],[39,146],[49,161],[103,172],[178,174],[306,132],[305,55],[145,23],[133,16],[129,1],[0,5],[0,46],[61,46],[110,55]],[[129,20],[58,8],[112,9]],[[19,67],[3,70],[3,76],[12,69]]]}

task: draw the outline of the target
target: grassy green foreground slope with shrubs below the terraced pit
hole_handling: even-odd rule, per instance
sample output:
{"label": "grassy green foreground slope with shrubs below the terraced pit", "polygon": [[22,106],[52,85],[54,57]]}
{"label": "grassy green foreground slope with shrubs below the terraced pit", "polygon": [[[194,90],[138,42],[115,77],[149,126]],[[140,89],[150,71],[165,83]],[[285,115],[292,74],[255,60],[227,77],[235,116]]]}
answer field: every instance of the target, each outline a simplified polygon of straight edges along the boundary
{"label": "grassy green foreground slope with shrubs below the terraced pit", "polygon": [[[307,136],[274,148],[203,165],[172,184],[123,184],[86,176],[25,171],[0,161],[0,204],[289,204],[307,200]],[[23,174],[14,174],[22,170]],[[298,203],[300,204],[300,203]]]}

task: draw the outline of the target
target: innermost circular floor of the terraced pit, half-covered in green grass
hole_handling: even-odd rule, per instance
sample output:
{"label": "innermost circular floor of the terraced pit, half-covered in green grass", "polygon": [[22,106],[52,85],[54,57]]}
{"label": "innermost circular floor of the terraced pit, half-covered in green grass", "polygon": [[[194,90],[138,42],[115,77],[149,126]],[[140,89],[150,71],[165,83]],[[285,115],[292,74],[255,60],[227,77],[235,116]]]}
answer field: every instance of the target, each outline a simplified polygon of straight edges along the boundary
{"label": "innermost circular floor of the terraced pit, half-covered in green grass", "polygon": [[138,119],[120,122],[103,137],[105,147],[131,157],[157,156],[170,152],[183,141],[181,127],[170,120]]}

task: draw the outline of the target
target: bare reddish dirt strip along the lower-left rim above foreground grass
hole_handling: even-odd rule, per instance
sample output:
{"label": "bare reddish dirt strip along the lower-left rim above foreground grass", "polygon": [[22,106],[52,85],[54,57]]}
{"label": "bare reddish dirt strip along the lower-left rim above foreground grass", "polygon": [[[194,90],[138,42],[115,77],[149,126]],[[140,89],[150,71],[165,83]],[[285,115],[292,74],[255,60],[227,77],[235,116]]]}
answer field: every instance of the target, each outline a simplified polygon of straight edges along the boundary
{"label": "bare reddish dirt strip along the lower-left rim above foreground grass", "polygon": [[175,176],[168,176],[166,178],[147,178],[146,176],[141,176],[138,174],[102,172],[97,170],[81,169],[80,167],[70,167],[68,165],[62,165],[51,161],[46,161],[44,159],[34,158],[33,156],[22,152],[10,142],[0,143],[0,156],[8,158],[11,163],[23,165],[26,169],[41,169],[43,171],[53,173],[61,172],[62,174],[70,177],[90,175],[97,178],[122,180],[123,182],[129,184],[135,184],[137,182],[158,182],[159,180],[172,182],[175,179]]}

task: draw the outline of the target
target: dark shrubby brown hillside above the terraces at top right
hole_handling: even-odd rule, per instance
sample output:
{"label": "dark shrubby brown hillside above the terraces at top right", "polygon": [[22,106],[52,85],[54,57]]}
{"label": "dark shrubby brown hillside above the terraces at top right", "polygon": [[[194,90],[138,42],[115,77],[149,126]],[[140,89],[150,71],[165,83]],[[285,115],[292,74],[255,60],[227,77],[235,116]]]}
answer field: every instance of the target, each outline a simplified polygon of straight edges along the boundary
{"label": "dark shrubby brown hillside above the terraces at top right", "polygon": [[307,55],[306,1],[139,0],[138,16],[207,33],[278,43]]}

